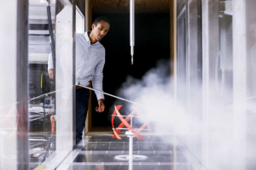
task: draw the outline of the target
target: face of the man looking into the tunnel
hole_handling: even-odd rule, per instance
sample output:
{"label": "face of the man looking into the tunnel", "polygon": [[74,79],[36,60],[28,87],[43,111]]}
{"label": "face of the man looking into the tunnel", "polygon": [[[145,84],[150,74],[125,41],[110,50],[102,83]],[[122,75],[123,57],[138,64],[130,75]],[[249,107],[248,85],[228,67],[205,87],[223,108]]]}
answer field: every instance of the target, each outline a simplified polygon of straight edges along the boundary
{"label": "face of the man looking into the tunnel", "polygon": [[109,31],[109,24],[103,20],[101,20],[97,26],[95,26],[95,24],[93,24],[91,26],[92,31],[90,33],[92,33],[92,35],[94,37],[96,37],[97,41],[101,41],[103,37],[105,37]]}

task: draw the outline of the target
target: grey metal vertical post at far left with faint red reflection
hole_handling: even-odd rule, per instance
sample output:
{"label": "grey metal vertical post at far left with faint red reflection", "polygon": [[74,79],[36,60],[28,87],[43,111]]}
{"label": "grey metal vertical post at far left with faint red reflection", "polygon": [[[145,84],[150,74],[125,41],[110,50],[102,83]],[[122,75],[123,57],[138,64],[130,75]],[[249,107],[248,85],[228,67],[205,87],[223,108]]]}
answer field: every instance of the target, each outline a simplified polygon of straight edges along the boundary
{"label": "grey metal vertical post at far left with faint red reflection", "polygon": [[28,0],[17,1],[17,4],[17,167],[28,169]]}

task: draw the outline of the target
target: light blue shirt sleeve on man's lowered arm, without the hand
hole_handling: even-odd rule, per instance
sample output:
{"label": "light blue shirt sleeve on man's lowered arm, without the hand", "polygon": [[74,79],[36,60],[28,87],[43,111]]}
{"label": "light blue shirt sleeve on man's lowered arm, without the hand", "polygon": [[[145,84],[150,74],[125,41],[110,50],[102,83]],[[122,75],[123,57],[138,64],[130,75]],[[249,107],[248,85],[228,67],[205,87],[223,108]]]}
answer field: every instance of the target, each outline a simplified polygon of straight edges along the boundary
{"label": "light blue shirt sleeve on man's lowered arm, without the hand", "polygon": [[[92,77],[92,86],[93,88],[103,91],[102,81],[103,81],[103,68],[105,65],[105,56],[104,58],[96,65],[94,75]],[[95,92],[97,99],[104,99],[104,94]]]}

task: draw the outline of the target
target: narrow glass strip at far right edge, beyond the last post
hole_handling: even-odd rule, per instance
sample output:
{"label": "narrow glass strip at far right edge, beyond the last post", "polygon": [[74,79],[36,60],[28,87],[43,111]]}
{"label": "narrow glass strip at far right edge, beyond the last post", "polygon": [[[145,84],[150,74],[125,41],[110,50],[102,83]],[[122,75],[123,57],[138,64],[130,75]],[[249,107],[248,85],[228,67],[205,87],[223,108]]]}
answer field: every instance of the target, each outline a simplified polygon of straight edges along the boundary
{"label": "narrow glass strip at far right edge, beyond the last post", "polygon": [[247,169],[256,168],[256,1],[247,5]]}

